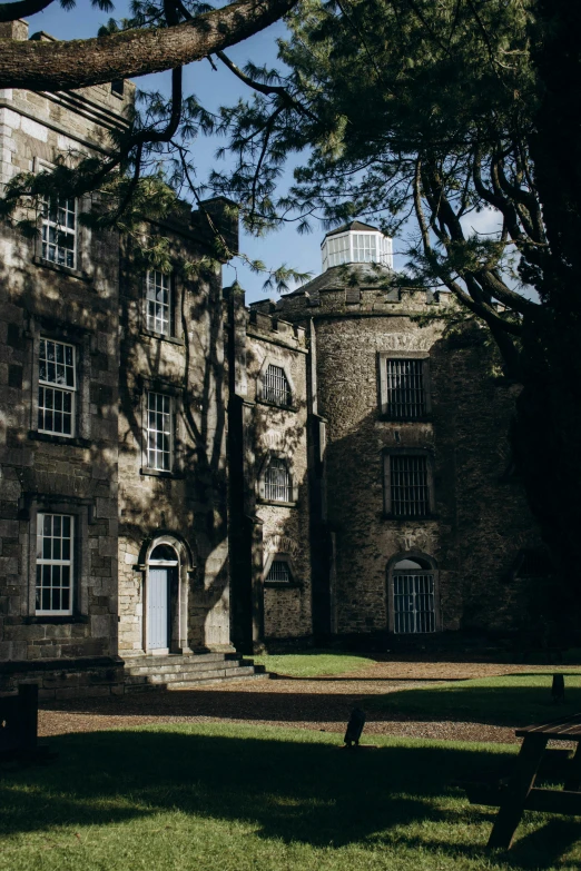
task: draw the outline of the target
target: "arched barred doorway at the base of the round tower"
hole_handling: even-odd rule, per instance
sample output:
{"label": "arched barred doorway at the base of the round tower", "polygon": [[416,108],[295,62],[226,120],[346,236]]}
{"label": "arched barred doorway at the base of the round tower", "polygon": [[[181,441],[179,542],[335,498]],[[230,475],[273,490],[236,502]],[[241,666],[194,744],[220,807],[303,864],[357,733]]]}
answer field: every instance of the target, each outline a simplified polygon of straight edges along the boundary
{"label": "arched barred doorway at the base of the round tower", "polygon": [[387,573],[390,631],[416,635],[440,630],[437,568],[430,556],[402,554]]}

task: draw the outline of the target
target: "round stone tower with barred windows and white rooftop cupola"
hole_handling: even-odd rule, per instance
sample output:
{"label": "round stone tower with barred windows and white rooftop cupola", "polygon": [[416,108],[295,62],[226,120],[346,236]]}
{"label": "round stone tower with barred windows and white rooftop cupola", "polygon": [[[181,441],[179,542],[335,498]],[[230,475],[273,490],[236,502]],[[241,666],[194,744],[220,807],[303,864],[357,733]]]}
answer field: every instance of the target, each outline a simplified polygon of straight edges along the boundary
{"label": "round stone tower with barred windows and white rooftop cupola", "polygon": [[501,483],[512,400],[483,330],[446,338],[454,300],[402,287],[375,227],[333,230],[322,255],[322,275],[276,304],[311,335],[315,626],[501,627],[531,522]]}

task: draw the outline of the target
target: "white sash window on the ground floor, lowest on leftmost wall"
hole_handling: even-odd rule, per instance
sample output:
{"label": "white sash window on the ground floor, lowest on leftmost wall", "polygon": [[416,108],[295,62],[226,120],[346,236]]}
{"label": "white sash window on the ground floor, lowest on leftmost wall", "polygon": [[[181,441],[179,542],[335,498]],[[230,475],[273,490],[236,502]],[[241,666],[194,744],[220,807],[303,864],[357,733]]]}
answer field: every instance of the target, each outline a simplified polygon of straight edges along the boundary
{"label": "white sash window on the ground floor, lowest on leftmost wall", "polygon": [[72,614],[73,521],[37,515],[37,613]]}

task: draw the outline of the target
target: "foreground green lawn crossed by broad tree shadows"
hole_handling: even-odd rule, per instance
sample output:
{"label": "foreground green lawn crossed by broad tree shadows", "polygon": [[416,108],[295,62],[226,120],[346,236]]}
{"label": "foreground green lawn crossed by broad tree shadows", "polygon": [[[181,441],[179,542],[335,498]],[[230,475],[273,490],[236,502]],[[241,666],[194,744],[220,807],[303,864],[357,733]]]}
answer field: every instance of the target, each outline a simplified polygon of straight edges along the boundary
{"label": "foreground green lawn crossed by broad tree shadows", "polygon": [[[375,740],[375,739],[374,739]],[[47,766],[1,772],[2,871],[577,871],[579,828],[528,814],[483,852],[489,810],[457,780],[502,775],[515,748],[242,725],[50,740]]]}

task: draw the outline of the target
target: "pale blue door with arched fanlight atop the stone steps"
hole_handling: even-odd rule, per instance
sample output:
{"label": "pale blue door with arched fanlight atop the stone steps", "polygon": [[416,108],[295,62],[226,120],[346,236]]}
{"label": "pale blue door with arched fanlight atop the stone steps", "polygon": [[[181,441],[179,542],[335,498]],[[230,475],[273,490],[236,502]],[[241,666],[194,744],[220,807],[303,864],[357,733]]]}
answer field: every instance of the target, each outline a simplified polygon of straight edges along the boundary
{"label": "pale blue door with arched fanlight atop the stone steps", "polygon": [[151,551],[147,573],[147,650],[168,653],[171,646],[171,600],[179,576],[179,558],[171,545]]}

